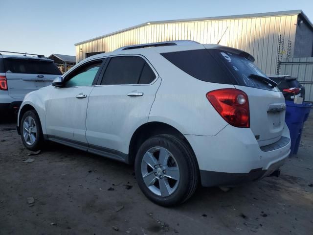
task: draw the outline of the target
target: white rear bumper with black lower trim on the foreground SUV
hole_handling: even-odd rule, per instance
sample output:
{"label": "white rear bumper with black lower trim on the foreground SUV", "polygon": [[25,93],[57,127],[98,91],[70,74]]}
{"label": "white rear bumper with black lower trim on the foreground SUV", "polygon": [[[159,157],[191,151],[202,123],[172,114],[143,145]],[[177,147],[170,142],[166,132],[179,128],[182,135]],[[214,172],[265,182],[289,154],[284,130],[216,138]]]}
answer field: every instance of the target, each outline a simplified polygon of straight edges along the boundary
{"label": "white rear bumper with black lower trim on the foreground SUV", "polygon": [[291,146],[286,123],[282,137],[289,141],[273,150],[261,149],[249,128],[231,125],[216,136],[185,137],[197,157],[201,183],[207,187],[237,185],[265,177],[284,164]]}

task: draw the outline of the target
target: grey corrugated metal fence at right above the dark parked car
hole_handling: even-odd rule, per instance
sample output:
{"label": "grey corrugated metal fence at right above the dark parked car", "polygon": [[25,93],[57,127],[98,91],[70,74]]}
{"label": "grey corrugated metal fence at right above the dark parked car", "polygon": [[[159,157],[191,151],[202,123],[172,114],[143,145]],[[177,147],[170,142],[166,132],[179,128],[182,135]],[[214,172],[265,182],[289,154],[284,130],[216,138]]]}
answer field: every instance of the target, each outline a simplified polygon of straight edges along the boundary
{"label": "grey corrugated metal fence at right above the dark parked car", "polygon": [[297,77],[305,87],[305,100],[313,102],[313,57],[284,59],[281,74]]}

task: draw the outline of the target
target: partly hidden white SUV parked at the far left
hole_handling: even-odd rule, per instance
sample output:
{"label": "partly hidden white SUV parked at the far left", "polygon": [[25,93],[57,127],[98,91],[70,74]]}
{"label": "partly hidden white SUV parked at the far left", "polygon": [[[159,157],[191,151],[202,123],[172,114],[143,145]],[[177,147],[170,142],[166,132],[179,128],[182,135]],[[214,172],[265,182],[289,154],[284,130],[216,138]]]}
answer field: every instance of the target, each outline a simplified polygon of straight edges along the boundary
{"label": "partly hidden white SUV parked at the far left", "polygon": [[0,53],[1,113],[18,111],[25,94],[51,85],[52,81],[62,74],[53,60],[43,55],[35,57],[26,56],[26,54],[3,55]]}

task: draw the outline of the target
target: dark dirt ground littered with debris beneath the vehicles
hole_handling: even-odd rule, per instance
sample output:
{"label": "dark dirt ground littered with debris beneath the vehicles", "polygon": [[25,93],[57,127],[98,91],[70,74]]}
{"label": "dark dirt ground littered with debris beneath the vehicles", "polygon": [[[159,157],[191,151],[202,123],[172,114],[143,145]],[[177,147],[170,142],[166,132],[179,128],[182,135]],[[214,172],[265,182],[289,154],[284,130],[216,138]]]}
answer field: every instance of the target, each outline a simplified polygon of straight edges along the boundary
{"label": "dark dirt ground littered with debris beneath the vehicles", "polygon": [[313,112],[279,178],[199,188],[175,208],[150,202],[132,166],[56,143],[28,156],[15,126],[0,122],[0,235],[313,234]]}

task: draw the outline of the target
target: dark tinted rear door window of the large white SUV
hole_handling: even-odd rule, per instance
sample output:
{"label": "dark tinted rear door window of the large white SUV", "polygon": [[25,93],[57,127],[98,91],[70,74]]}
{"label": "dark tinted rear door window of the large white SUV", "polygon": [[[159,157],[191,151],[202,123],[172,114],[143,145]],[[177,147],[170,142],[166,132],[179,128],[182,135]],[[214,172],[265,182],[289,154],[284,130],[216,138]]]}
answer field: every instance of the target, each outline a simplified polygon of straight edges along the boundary
{"label": "dark tinted rear door window of the large white SUV", "polygon": [[101,85],[149,84],[156,78],[147,62],[139,56],[112,57]]}

